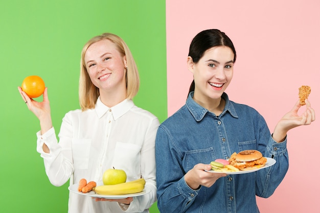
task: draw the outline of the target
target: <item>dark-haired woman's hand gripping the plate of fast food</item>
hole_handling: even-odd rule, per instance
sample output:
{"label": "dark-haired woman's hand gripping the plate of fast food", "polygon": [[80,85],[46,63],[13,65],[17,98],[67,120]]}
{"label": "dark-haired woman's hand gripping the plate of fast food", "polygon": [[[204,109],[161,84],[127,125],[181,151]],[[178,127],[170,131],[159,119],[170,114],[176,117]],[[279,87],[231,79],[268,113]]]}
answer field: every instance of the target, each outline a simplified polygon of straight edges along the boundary
{"label": "dark-haired woman's hand gripping the plate of fast food", "polygon": [[203,163],[196,164],[185,175],[186,183],[193,190],[199,188],[200,185],[211,187],[219,178],[227,175],[225,173],[205,172],[204,170],[211,170],[211,165]]}

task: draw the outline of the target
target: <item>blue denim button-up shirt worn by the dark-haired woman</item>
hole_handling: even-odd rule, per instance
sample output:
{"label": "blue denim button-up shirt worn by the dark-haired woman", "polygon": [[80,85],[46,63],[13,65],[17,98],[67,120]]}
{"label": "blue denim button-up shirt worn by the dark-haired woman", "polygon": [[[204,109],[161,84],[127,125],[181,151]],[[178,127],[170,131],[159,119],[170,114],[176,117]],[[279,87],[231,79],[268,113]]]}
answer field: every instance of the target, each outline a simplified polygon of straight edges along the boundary
{"label": "blue denim button-up shirt worn by the dark-haired woman", "polygon": [[[252,107],[232,102],[226,93],[223,112],[186,105],[163,122],[156,135],[157,205],[160,212],[257,213],[256,196],[275,192],[288,170],[287,139],[276,143],[263,117]],[[276,164],[257,172],[227,175],[211,187],[190,188],[184,175],[198,163],[227,159],[234,152],[259,150]]]}

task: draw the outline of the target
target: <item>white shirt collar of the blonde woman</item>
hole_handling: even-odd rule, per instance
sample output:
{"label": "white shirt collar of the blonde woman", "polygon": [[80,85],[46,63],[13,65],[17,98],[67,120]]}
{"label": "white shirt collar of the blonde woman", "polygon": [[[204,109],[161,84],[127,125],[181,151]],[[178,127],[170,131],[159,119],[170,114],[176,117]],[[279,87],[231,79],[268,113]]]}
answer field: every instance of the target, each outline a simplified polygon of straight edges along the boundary
{"label": "white shirt collar of the blonde woman", "polygon": [[116,106],[113,107],[107,107],[104,105],[100,99],[100,97],[97,100],[96,103],[96,113],[99,117],[99,119],[108,111],[112,111],[113,119],[117,120],[119,117],[121,117],[123,114],[125,114],[127,111],[129,111],[134,106],[134,103],[131,99],[125,99],[124,101],[120,102]]}

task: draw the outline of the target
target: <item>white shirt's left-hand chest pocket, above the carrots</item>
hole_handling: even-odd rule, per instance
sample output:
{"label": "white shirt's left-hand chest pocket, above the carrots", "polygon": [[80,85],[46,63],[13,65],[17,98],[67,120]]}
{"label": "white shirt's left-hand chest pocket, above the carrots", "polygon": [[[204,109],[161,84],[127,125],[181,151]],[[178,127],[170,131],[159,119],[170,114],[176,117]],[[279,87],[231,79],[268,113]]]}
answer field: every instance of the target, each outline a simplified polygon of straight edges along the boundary
{"label": "white shirt's left-hand chest pocket, above the carrots", "polygon": [[87,170],[89,168],[89,154],[91,139],[73,139],[72,156],[75,170]]}

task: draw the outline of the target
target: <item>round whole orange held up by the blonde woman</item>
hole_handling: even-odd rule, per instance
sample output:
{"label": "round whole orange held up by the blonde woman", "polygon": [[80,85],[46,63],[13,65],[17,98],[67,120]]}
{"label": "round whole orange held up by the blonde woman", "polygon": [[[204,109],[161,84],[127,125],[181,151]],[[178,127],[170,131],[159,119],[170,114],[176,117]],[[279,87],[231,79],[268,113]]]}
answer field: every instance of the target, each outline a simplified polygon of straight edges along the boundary
{"label": "round whole orange held up by the blonde woman", "polygon": [[28,76],[22,81],[21,89],[29,98],[37,98],[44,91],[44,81],[39,76]]}

